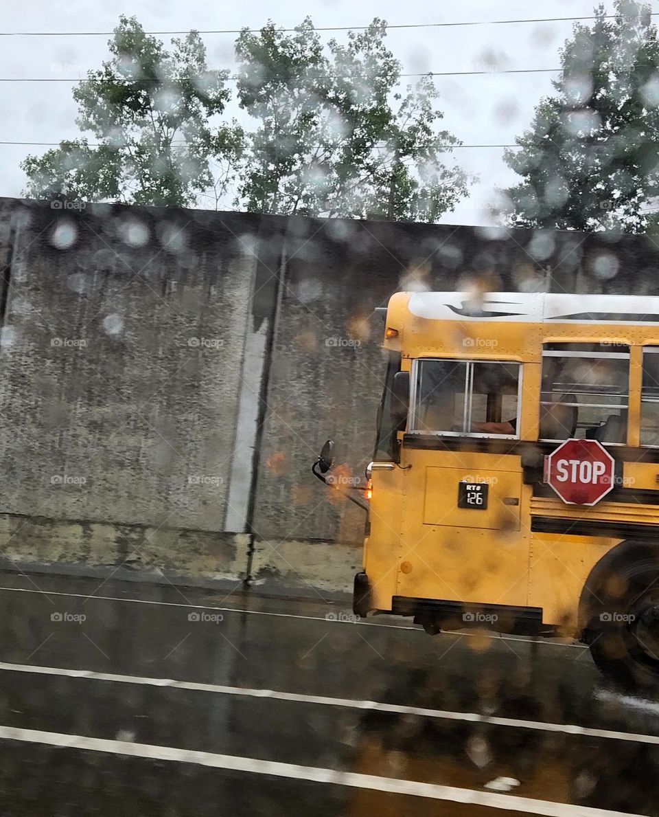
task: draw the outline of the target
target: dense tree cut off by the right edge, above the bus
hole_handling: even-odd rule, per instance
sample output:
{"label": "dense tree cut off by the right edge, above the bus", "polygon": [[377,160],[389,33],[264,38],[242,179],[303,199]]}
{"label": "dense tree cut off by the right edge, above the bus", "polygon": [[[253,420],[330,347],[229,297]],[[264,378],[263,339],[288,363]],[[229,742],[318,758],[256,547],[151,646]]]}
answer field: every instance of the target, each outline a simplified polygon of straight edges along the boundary
{"label": "dense tree cut off by the right edge, above the bus", "polygon": [[659,189],[659,43],[650,8],[616,0],[608,20],[575,25],[556,96],[505,163],[523,181],[505,191],[510,225],[646,229]]}

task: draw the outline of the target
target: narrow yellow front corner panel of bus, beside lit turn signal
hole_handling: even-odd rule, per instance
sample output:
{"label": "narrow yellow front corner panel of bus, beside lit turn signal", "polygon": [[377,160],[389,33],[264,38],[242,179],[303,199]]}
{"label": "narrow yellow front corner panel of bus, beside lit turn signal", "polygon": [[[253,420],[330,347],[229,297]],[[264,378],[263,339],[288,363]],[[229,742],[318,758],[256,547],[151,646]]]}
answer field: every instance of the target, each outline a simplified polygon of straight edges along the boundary
{"label": "narrow yellow front corner panel of bus, beside lit turn signal", "polygon": [[407,471],[373,471],[371,529],[364,542],[363,567],[373,609],[390,610],[399,569],[400,520]]}

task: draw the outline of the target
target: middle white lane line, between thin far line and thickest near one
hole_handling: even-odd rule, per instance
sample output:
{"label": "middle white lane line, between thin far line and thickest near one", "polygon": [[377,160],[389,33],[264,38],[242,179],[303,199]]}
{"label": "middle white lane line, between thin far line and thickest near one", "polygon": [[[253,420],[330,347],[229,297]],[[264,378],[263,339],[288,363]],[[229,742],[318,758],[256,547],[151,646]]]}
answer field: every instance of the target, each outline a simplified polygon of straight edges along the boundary
{"label": "middle white lane line, between thin far line and thickest near one", "polygon": [[594,729],[590,726],[577,726],[564,723],[545,723],[543,721],[522,721],[518,718],[494,717],[479,715],[478,712],[451,712],[444,709],[427,709],[424,707],[406,707],[398,703],[381,703],[380,701],[361,701],[351,698],[329,698],[325,695],[307,695],[298,692],[279,692],[278,690],[252,690],[243,686],[224,686],[220,684],[202,684],[197,681],[174,681],[171,678],[149,678],[136,675],[114,675],[111,672],[92,672],[85,669],[66,669],[65,667],[41,667],[35,664],[14,664],[0,662],[0,672],[30,672],[35,675],[68,676],[69,678],[87,678],[91,681],[114,681],[119,684],[136,684],[142,686],[160,686],[174,690],[193,690],[212,692],[221,695],[237,695],[243,698],[269,698],[294,703],[312,703],[328,707],[345,709],[367,709],[373,712],[394,712],[399,715],[417,715],[432,717],[445,721],[472,721],[488,723],[495,726],[513,726],[515,729],[532,729],[539,732],[561,732],[563,734],[586,735],[590,738],[628,740],[635,743],[659,744],[659,735],[635,734],[633,732],[615,732],[606,729]]}

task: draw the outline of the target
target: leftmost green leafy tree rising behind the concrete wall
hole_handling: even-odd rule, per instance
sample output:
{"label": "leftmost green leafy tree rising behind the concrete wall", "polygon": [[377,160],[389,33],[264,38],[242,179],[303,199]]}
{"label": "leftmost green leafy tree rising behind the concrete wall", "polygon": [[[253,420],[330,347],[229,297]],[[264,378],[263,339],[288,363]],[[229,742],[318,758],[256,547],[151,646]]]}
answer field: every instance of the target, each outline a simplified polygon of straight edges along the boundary
{"label": "leftmost green leafy tree rising behind the concrete wall", "polygon": [[198,33],[171,43],[168,52],[135,17],[119,18],[112,58],[73,91],[78,126],[99,145],[65,141],[25,158],[26,195],[185,207],[212,187],[211,157],[225,164],[220,185],[229,185],[243,132],[209,123],[229,100],[228,73],[207,68]]}

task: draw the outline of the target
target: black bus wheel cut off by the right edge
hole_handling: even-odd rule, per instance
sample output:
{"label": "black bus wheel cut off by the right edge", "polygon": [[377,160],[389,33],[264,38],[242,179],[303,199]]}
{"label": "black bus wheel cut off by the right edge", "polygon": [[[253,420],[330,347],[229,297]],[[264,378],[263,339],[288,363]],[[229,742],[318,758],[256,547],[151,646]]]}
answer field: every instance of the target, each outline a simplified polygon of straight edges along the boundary
{"label": "black bus wheel cut off by the right edge", "polygon": [[659,686],[659,545],[622,542],[595,565],[581,596],[584,640],[604,676]]}

